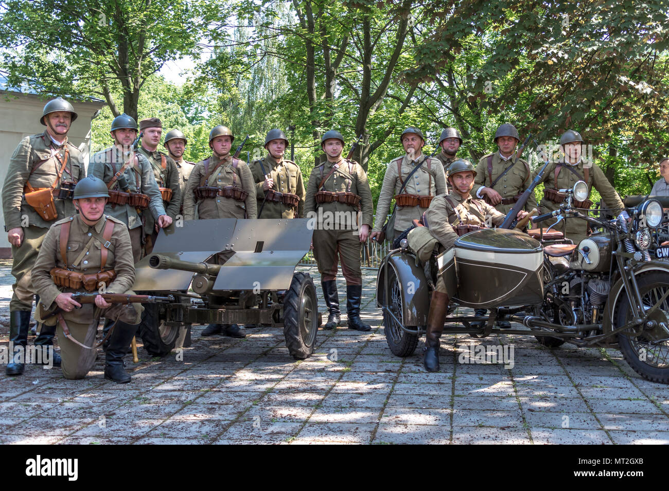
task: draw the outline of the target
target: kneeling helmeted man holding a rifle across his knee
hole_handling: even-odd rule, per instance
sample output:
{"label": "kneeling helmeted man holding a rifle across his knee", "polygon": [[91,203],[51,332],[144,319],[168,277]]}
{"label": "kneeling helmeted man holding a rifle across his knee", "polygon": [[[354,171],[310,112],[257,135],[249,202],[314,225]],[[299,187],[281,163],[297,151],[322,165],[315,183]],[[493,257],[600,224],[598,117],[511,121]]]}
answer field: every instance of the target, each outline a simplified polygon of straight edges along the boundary
{"label": "kneeling helmeted man holding a rifle across his knee", "polygon": [[[74,189],[79,214],[57,221],[47,232],[33,269],[33,286],[39,294],[39,316],[49,324],[58,322],[64,377],[83,379],[90,371],[97,354],[98,320],[105,316],[116,323],[106,349],[104,378],[125,383],[130,375],[123,357],[140,320],[141,304],[110,304],[99,295],[95,304],[72,299],[75,292],[98,292],[102,283],[106,293],[133,294],[130,235],[125,223],[104,215],[108,195],[96,177],[79,181]],[[48,312],[55,315],[47,318]]]}

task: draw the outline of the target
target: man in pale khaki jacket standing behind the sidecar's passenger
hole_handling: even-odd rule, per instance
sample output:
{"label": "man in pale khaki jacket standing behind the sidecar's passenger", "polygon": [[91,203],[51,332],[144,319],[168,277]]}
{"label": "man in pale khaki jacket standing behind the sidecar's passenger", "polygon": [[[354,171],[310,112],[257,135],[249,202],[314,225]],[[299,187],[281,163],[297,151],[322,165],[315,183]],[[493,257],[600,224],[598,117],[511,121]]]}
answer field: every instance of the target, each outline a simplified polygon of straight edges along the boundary
{"label": "man in pale khaki jacket standing behind the sidecar's passenger", "polygon": [[[386,236],[391,242],[405,229],[411,227],[411,221],[420,218],[429,202],[436,195],[446,193],[446,177],[444,166],[438,159],[429,159],[422,153],[425,138],[418,128],[407,128],[400,136],[405,155],[390,161],[383,177],[381,194],[377,203],[377,215],[374,220],[372,239],[378,239],[385,218],[390,211],[390,202],[395,197],[397,215],[395,215],[395,229],[387,230]],[[411,175],[411,179],[403,184],[417,165],[421,167]]]}

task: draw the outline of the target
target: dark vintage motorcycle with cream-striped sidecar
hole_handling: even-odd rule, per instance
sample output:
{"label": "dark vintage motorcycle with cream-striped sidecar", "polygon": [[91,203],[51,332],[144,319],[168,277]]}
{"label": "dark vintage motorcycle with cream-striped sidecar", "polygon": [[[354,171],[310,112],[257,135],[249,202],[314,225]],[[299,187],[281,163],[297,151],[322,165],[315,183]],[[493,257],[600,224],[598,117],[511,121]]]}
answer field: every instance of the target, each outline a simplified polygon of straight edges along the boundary
{"label": "dark vintage motorcycle with cream-striped sidecar", "polygon": [[[644,379],[669,383],[669,263],[649,251],[662,205],[646,199],[627,208],[629,222],[595,218],[573,207],[587,198],[583,181],[560,192],[566,197],[559,209],[533,222],[588,221],[593,232],[578,244],[551,237],[547,245],[521,231],[484,228],[425,263],[406,239],[389,252],[379,266],[377,306],[391,352],[407,357],[415,351],[439,275],[450,305],[490,309],[487,317],[447,316],[444,334],[524,334],[551,348],[565,342],[615,348]],[[495,328],[496,320],[523,327]]]}

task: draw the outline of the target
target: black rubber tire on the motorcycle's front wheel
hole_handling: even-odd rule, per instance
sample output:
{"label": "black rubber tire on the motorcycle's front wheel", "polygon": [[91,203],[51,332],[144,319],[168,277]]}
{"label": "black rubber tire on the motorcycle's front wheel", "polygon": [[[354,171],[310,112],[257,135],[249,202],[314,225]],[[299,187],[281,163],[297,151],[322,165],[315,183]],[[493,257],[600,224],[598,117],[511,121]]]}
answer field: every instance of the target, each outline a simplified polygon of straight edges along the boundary
{"label": "black rubber tire on the motorcycle's front wheel", "polygon": [[[653,288],[653,286],[664,285],[666,288],[669,288],[669,273],[663,274],[656,271],[649,272],[648,274],[639,276],[637,278],[637,284],[639,286],[639,292],[643,298],[648,289]],[[619,300],[615,310],[616,323],[613,328],[626,323],[625,320],[627,318],[628,310],[630,309],[630,302],[625,292],[622,292],[618,298]],[[668,301],[669,300],[665,300],[665,302]],[[630,338],[624,334],[618,334],[618,343],[619,350],[623,354],[625,361],[636,373],[648,381],[669,384],[669,367],[652,367],[644,361],[641,361],[639,359],[639,353],[632,347]]]}

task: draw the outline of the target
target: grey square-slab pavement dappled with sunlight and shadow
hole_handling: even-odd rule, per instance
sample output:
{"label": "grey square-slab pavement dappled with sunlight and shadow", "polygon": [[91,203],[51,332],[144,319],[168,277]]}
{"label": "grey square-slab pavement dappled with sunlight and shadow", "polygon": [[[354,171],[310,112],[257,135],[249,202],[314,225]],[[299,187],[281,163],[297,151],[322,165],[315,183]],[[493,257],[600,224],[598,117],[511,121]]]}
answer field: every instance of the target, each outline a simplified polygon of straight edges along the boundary
{"label": "grey square-slab pavement dappled with sunlight and shadow", "polygon": [[[6,347],[11,276],[2,266]],[[300,269],[314,276],[320,296],[318,272]],[[339,286],[345,291],[343,280]],[[406,359],[390,353],[374,286],[367,270],[363,320],[373,330],[320,330],[306,361],[288,355],[280,329],[237,340],[200,338],[203,326],[194,326],[183,361],[152,359],[140,348],[135,365],[128,355],[128,384],[105,381],[102,361],[82,381],[37,365],[21,377],[2,369],[0,443],[669,443],[669,387],[641,379],[619,352],[444,335],[442,371],[425,373],[422,342]],[[470,342],[513,345],[514,366],[460,363]]]}

